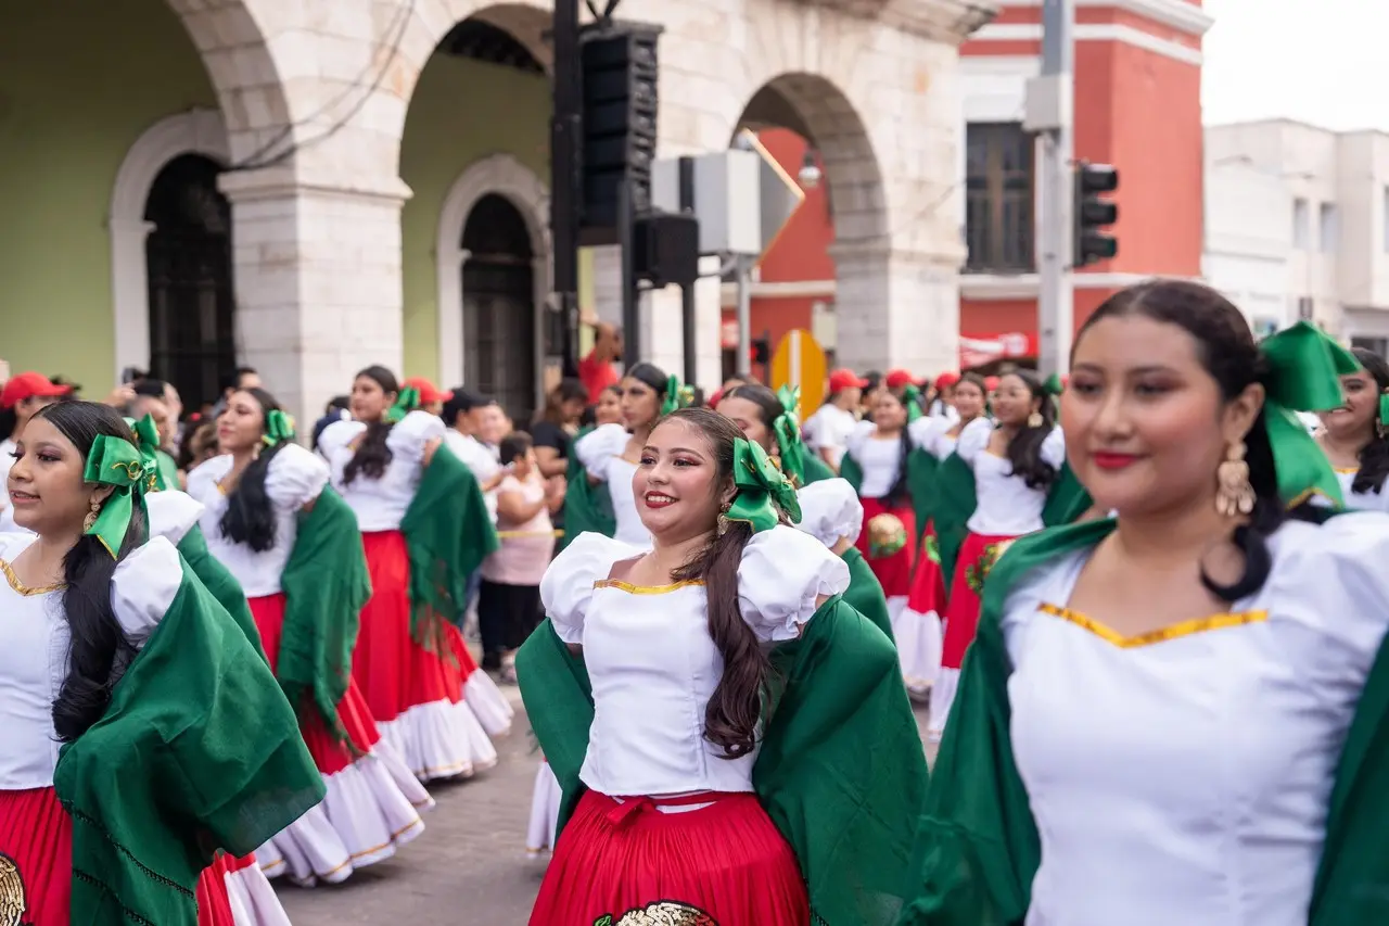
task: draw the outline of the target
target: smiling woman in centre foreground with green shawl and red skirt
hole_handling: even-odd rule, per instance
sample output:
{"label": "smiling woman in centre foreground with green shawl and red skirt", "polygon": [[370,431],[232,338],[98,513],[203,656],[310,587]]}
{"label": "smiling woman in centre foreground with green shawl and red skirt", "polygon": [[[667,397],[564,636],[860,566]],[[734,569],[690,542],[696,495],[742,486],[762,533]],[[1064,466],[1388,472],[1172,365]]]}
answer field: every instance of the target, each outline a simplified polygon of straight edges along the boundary
{"label": "smiling woman in centre foreground with green shawl and red skirt", "polygon": [[517,659],[568,818],[531,923],[890,923],[925,763],[847,566],[707,409],[647,435],[635,498],[651,542],[575,539]]}

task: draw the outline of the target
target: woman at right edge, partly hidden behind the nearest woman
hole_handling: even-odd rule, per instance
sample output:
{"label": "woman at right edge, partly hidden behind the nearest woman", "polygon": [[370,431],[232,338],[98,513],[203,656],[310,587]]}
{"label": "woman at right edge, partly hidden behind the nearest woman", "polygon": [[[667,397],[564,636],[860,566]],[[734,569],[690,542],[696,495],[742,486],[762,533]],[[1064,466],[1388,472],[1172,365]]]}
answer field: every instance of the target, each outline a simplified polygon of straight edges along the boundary
{"label": "woman at right edge, partly hidden behind the nearest woman", "polygon": [[1389,512],[1389,363],[1372,350],[1351,348],[1361,370],[1340,378],[1346,400],[1321,413],[1317,444],[1340,481],[1346,505]]}

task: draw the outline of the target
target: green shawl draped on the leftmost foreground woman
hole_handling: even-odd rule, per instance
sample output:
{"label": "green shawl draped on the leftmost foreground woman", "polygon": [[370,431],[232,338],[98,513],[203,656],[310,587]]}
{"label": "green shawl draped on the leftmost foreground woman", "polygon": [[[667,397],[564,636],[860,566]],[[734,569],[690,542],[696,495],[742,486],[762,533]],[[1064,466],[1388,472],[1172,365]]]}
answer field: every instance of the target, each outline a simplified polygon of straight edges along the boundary
{"label": "green shawl draped on the leftmost foreground woman", "polygon": [[74,926],[196,926],[208,845],[247,855],[324,798],[263,658],[183,566],[106,715],[64,745]]}

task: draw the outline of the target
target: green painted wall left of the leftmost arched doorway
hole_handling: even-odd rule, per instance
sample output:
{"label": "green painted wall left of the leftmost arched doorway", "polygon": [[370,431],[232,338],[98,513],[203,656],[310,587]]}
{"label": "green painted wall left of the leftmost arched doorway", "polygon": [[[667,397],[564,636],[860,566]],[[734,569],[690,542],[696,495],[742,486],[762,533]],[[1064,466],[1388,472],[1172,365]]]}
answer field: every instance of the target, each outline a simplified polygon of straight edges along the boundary
{"label": "green painted wall left of the leftmost arched doorway", "polygon": [[115,382],[111,188],[161,118],[214,107],[164,0],[7,3],[0,17],[0,357]]}

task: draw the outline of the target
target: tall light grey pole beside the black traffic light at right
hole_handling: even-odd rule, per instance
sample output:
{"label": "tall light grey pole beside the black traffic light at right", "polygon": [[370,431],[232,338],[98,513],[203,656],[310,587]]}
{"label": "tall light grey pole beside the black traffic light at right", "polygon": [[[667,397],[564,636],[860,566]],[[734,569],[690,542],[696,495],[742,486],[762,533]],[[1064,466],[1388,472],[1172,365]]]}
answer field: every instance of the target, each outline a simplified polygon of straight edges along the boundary
{"label": "tall light grey pole beside the black traffic light at right", "polygon": [[[1075,0],[1042,0],[1042,75],[1074,96]],[[1074,106],[1060,100],[1057,129],[1038,139],[1038,366],[1043,375],[1065,373],[1075,332],[1071,253],[1074,250]]]}

